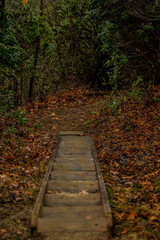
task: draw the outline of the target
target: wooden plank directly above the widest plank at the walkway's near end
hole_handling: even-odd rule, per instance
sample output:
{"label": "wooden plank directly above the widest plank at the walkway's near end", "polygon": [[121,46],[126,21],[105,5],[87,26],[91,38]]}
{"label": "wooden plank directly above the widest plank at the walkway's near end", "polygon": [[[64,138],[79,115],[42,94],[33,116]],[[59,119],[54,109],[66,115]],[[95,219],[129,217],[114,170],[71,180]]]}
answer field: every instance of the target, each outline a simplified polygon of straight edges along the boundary
{"label": "wooden plank directly above the widest plank at the walkway's near end", "polygon": [[41,207],[40,217],[47,218],[67,218],[72,217],[84,217],[95,218],[104,217],[103,206],[80,206],[80,207]]}

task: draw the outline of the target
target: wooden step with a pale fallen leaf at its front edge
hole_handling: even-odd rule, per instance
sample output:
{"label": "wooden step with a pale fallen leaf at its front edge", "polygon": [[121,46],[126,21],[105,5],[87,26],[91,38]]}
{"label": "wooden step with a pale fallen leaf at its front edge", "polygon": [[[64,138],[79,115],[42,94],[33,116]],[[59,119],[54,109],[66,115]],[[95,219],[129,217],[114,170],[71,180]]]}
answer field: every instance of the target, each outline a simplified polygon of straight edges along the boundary
{"label": "wooden step with a pale fallen leaf at its front edge", "polygon": [[98,181],[48,181],[47,191],[53,193],[95,193],[98,192]]}

